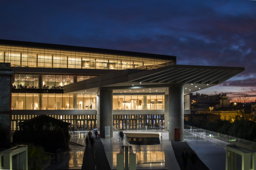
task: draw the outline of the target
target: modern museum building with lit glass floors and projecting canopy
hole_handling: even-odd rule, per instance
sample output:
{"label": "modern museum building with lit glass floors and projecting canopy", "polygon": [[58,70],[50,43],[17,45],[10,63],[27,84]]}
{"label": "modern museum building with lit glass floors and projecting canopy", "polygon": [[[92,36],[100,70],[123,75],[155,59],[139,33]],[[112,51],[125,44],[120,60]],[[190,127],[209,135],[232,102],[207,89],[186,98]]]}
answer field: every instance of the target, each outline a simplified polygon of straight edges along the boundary
{"label": "modern museum building with lit glass floors and projecting canopy", "polygon": [[9,71],[13,82],[12,131],[44,114],[69,122],[71,130],[99,128],[102,137],[106,126],[163,127],[169,140],[175,128],[183,140],[190,93],[244,71],[176,65],[175,56],[14,40],[0,40],[0,62],[10,63],[0,76]]}

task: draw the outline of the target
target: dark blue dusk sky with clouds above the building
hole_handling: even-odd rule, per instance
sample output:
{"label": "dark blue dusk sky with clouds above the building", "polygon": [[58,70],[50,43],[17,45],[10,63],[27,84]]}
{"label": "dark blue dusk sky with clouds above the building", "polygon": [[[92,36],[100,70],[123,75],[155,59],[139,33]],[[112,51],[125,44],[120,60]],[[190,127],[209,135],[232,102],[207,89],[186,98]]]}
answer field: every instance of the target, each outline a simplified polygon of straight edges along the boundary
{"label": "dark blue dusk sky with clouds above the building", "polygon": [[[0,39],[177,56],[245,67],[203,90],[256,97],[256,0],[0,1]],[[201,91],[202,92],[202,91]]]}

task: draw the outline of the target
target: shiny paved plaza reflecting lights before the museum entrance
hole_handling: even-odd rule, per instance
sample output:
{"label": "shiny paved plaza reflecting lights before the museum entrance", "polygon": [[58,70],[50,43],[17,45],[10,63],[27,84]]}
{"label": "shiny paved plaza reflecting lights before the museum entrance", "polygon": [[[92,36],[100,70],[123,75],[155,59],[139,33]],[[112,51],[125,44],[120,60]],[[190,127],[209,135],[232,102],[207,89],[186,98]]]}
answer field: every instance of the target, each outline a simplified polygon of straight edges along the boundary
{"label": "shiny paved plaza reflecting lights before the museum entrance", "polygon": [[[86,146],[85,144],[86,133],[88,132],[87,131],[75,132],[71,135],[70,141]],[[179,156],[177,157],[177,151],[174,152],[173,147],[180,147],[178,145],[184,145],[184,143],[177,142],[177,145],[172,146],[173,142],[169,141],[168,132],[162,132],[162,139],[163,139],[162,144],[132,145],[132,144],[128,144],[124,140],[122,141],[121,138],[118,135],[116,135],[116,133],[114,133],[113,138],[97,139],[96,144],[94,146],[95,149],[91,149],[90,144],[88,146],[88,150],[86,150],[85,147],[81,147],[81,146],[70,146],[71,151],[69,154],[66,155],[65,160],[54,163],[53,165],[48,167],[47,170],[55,170],[55,169],[86,170],[87,166],[95,167],[97,162],[102,163],[102,161],[100,160],[103,160],[102,158],[99,158],[96,156],[97,155],[96,150],[98,149],[98,155],[103,154],[102,152],[103,148],[105,150],[105,155],[106,155],[109,167],[111,168],[111,170],[115,170],[116,154],[119,153],[119,150],[123,145],[131,145],[133,147],[134,153],[137,153],[137,169],[183,170],[182,165],[180,167],[180,164],[182,162],[180,161]],[[225,169],[225,156],[226,156],[225,148],[227,143],[221,142],[221,141],[216,142],[215,140],[209,140],[208,138],[206,140],[204,136],[199,137],[196,134],[191,134],[189,130],[184,131],[184,142],[186,142],[187,145],[191,147],[192,150],[195,151],[195,153],[198,155],[198,158],[201,159],[202,161],[202,164],[200,165],[201,167],[202,166],[208,167],[209,170]],[[176,142],[174,144],[176,144]],[[178,149],[178,150],[182,150],[182,149]],[[181,151],[178,151],[178,152],[181,152]],[[95,161],[92,160],[92,158],[95,159]],[[188,166],[189,165],[190,164],[188,163]],[[190,169],[190,168],[187,168],[187,169]]]}

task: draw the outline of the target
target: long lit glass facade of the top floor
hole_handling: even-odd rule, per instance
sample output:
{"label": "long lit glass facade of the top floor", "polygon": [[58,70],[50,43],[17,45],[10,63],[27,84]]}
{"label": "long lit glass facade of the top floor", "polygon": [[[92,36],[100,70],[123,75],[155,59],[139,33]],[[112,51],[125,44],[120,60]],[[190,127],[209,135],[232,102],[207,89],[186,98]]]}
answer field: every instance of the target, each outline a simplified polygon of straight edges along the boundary
{"label": "long lit glass facade of the top floor", "polygon": [[[145,54],[146,55],[146,54]],[[140,68],[146,65],[173,65],[172,59],[130,55],[68,51],[63,49],[0,45],[0,62],[12,67],[114,69]]]}

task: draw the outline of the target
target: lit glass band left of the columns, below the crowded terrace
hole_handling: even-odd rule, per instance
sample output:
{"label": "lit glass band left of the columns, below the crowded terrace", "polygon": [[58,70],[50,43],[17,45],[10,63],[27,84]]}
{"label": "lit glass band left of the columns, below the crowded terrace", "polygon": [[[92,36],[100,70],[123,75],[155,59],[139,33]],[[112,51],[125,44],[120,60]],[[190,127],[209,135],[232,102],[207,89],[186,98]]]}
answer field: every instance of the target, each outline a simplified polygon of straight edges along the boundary
{"label": "lit glass band left of the columns, below the crowded terrace", "polygon": [[12,110],[96,110],[96,94],[12,93]]}

